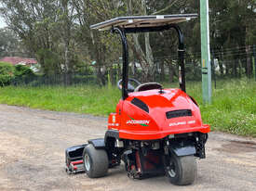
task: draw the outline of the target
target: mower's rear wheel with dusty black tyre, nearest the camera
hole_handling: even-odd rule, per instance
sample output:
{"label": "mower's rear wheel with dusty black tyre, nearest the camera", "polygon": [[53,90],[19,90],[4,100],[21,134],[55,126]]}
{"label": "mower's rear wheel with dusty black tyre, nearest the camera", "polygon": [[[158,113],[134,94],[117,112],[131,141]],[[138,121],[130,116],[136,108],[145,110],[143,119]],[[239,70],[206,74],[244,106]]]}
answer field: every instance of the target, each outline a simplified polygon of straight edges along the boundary
{"label": "mower's rear wheel with dusty black tyre, nearest the camera", "polygon": [[178,157],[172,154],[166,166],[168,180],[173,185],[191,185],[197,175],[197,166],[193,155]]}

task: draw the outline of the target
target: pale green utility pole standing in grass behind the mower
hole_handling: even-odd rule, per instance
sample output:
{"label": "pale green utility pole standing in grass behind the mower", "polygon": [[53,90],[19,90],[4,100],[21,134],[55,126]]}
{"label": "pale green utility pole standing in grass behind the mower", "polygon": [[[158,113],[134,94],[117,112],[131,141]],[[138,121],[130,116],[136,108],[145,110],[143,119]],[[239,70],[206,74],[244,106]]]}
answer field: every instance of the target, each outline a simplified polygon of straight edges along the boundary
{"label": "pale green utility pole standing in grass behind the mower", "polygon": [[211,67],[209,53],[209,0],[200,0],[202,90],[204,104],[211,104]]}

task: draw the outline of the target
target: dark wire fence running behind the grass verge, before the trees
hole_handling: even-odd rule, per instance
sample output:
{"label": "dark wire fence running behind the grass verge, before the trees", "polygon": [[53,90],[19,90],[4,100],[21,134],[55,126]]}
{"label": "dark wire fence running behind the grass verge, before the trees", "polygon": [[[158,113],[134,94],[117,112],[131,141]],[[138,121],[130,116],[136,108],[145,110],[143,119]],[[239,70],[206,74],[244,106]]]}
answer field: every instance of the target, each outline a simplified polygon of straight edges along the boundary
{"label": "dark wire fence running behind the grass verge, before the trees", "polygon": [[[177,53],[170,54],[173,57],[155,57],[155,67],[152,69],[152,78],[148,81],[158,83],[178,82],[178,57]],[[186,81],[201,81],[201,53],[186,53],[185,57]],[[129,63],[129,78],[141,80],[143,75],[141,65],[136,59]],[[34,75],[30,77],[15,78],[13,85],[74,85],[74,84],[93,84],[104,85],[107,83],[115,84],[121,79],[121,68],[112,67],[108,70],[97,70],[90,73],[64,73],[53,75]],[[99,70],[98,70],[99,71]],[[248,45],[243,47],[232,47],[226,49],[212,49],[211,51],[211,75],[212,81],[218,82],[223,79],[231,78],[253,78],[256,80],[256,47]]]}

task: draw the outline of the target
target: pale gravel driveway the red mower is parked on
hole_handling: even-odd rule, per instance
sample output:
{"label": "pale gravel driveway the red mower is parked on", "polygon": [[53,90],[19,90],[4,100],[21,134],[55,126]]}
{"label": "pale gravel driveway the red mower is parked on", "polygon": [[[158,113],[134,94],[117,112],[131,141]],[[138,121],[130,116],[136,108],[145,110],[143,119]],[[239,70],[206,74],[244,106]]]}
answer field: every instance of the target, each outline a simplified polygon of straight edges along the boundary
{"label": "pale gravel driveway the red mower is parked on", "polygon": [[100,179],[67,175],[64,150],[102,137],[101,117],[0,105],[0,190],[256,190],[256,139],[210,133],[194,185],[130,180],[121,165]]}

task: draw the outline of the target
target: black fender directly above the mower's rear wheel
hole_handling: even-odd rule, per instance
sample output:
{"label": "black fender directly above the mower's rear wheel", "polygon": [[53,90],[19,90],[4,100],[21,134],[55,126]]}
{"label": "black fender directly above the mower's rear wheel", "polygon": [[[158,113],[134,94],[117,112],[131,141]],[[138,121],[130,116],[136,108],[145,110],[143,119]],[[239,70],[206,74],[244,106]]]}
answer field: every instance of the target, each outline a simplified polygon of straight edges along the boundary
{"label": "black fender directly above the mower's rear wheel", "polygon": [[173,142],[168,146],[170,153],[174,153],[178,157],[195,155],[195,145],[191,141],[186,142]]}

